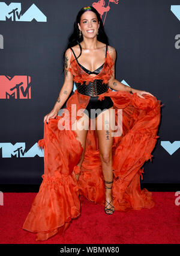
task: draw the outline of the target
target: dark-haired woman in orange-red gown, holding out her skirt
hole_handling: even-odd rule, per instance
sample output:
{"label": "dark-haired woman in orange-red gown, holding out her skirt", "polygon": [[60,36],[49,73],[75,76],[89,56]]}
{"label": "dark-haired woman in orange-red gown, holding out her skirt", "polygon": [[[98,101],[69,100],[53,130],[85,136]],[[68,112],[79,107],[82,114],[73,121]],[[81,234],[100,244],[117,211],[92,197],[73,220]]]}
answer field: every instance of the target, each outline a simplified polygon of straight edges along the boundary
{"label": "dark-haired woman in orange-red gown, holding out her skirt", "polygon": [[[100,14],[93,7],[82,8],[64,54],[64,84],[53,110],[44,116],[44,139],[38,141],[44,148],[43,183],[23,224],[23,229],[37,233],[37,240],[64,232],[79,216],[79,195],[105,201],[107,214],[154,206],[151,193],[140,190],[138,178],[158,137],[160,101],[116,80],[115,61]],[[77,90],[68,99],[73,81]],[[60,117],[66,101],[68,114]],[[67,120],[70,127],[63,130]],[[119,136],[113,136],[116,130]]]}

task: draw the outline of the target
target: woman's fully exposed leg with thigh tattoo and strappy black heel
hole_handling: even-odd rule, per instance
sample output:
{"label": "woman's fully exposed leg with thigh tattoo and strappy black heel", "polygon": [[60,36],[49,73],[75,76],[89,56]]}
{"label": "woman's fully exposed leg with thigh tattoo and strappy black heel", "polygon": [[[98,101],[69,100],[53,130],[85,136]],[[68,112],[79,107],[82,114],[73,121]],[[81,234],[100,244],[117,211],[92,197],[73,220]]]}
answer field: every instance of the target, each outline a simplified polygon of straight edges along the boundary
{"label": "woman's fully exposed leg with thigh tattoo and strappy black heel", "polygon": [[[113,109],[113,107],[104,110],[102,113],[100,113],[96,117],[95,122],[95,129],[98,136],[98,143],[100,148],[100,158],[102,163],[102,170],[103,170],[103,176],[104,181],[113,181],[113,171],[112,171],[112,143],[113,143],[113,137],[112,132],[115,131],[115,114],[110,114],[110,110]],[[115,111],[115,110],[113,110]],[[113,112],[112,111],[112,112]],[[100,125],[100,126],[99,126]],[[98,130],[100,129],[100,130]],[[113,201],[112,201],[112,183],[108,184],[105,183],[105,186],[109,189],[105,189],[105,195],[106,195],[106,204],[105,207],[111,208]],[[111,205],[110,205],[110,204]],[[112,214],[111,210],[106,210],[106,213]]]}

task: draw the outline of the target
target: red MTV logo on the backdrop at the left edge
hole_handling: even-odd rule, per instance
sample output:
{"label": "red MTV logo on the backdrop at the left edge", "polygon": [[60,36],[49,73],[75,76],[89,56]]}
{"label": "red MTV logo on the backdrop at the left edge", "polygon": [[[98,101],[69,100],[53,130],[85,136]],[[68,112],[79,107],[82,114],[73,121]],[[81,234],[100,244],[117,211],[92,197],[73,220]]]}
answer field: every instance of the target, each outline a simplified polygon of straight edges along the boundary
{"label": "red MTV logo on the backdrop at the left edge", "polygon": [[31,77],[0,75],[0,99],[31,99]]}

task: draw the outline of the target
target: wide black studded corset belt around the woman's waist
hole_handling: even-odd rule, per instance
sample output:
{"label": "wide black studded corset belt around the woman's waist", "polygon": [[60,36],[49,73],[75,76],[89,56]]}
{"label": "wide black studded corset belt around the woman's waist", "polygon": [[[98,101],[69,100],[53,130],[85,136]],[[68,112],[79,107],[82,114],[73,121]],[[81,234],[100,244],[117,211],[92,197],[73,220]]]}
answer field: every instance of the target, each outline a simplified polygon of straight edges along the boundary
{"label": "wide black studded corset belt around the woman's waist", "polygon": [[109,89],[108,84],[104,84],[103,80],[95,79],[94,82],[89,82],[88,85],[85,84],[84,81],[83,84],[75,83],[77,87],[77,92],[83,95],[88,96],[97,96],[104,92],[107,92]]}

